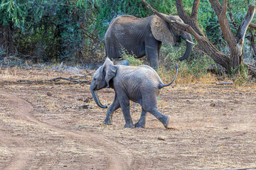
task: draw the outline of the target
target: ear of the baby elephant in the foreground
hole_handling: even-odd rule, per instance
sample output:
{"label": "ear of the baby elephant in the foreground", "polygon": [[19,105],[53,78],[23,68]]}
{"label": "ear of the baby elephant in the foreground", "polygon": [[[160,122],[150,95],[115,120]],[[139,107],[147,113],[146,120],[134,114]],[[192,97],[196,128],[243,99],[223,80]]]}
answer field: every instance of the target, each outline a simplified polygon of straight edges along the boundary
{"label": "ear of the baby elephant in the foreground", "polygon": [[117,73],[117,66],[113,64],[109,57],[106,58],[103,64],[105,70],[105,80],[107,82],[107,86],[110,86],[110,80],[113,79],[115,74]]}

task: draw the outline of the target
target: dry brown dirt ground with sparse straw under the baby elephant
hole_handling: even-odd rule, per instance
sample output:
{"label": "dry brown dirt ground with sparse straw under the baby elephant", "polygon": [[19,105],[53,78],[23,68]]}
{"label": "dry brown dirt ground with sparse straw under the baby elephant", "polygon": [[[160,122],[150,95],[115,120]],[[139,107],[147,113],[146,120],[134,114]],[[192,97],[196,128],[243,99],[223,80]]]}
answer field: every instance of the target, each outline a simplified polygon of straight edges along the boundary
{"label": "dry brown dirt ground with sparse straw under the baby elephant", "polygon": [[[81,73],[80,73],[81,74]],[[85,74],[85,73],[82,73]],[[21,84],[68,77],[52,69],[0,69],[0,169],[242,169],[256,167],[256,88],[174,84],[159,96],[166,130],[148,114],[146,128],[123,128],[88,84]],[[100,92],[110,105],[112,89]],[[131,106],[134,123],[141,108]]]}

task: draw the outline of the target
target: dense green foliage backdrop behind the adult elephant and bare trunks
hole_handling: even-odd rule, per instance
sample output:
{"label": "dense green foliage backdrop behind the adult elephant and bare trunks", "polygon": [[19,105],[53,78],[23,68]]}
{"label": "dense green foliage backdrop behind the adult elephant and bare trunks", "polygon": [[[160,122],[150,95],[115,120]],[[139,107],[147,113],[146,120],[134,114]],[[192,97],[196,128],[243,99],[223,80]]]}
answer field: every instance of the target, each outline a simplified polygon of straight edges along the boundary
{"label": "dense green foliage backdrop behind the adult elephant and bare trunks", "polygon": [[[149,0],[151,6],[178,15],[176,1]],[[220,0],[220,3],[222,1]],[[253,0],[229,0],[228,22],[235,33]],[[183,0],[191,15],[193,1]],[[100,60],[104,57],[104,35],[113,18],[153,13],[140,0],[2,0],[0,4],[0,55],[31,57],[41,62]],[[253,18],[252,23],[255,23]],[[208,0],[198,6],[198,28],[216,47],[227,45],[218,17]],[[253,31],[247,35],[253,36]],[[250,46],[250,44],[245,44]]]}

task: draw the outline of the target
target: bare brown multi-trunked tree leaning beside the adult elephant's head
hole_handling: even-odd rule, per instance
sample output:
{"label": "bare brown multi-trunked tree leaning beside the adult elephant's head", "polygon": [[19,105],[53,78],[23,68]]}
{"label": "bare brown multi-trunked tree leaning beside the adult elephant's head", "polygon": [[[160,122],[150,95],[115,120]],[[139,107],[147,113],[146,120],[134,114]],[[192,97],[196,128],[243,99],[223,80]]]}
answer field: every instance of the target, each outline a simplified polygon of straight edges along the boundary
{"label": "bare brown multi-trunked tree leaning beside the adult elephant's head", "polygon": [[255,6],[249,6],[247,15],[243,19],[241,25],[238,28],[236,35],[233,34],[230,24],[228,22],[227,10],[228,10],[228,0],[223,0],[222,4],[218,0],[209,0],[210,4],[213,6],[213,10],[218,16],[218,21],[220,23],[220,28],[223,33],[223,37],[226,42],[228,42],[228,46],[230,47],[230,54],[224,54],[220,52],[210,40],[203,35],[201,30],[198,27],[197,18],[198,18],[198,6],[201,0],[194,0],[191,16],[186,13],[183,7],[182,0],[176,0],[176,8],[178,11],[178,16],[185,23],[180,23],[178,21],[171,21],[169,18],[166,18],[164,15],[161,15],[158,11],[152,8],[146,0],[141,0],[147,8],[149,8],[153,13],[162,18],[164,21],[172,23],[174,26],[180,28],[181,30],[185,30],[197,40],[199,45],[203,48],[204,52],[206,52],[216,63],[220,64],[224,67],[228,72],[233,72],[238,70],[240,64],[245,64],[245,66],[250,69],[250,71],[255,72],[256,68],[250,64],[243,62],[242,49],[245,40],[245,33],[247,31],[250,22],[255,14]]}

